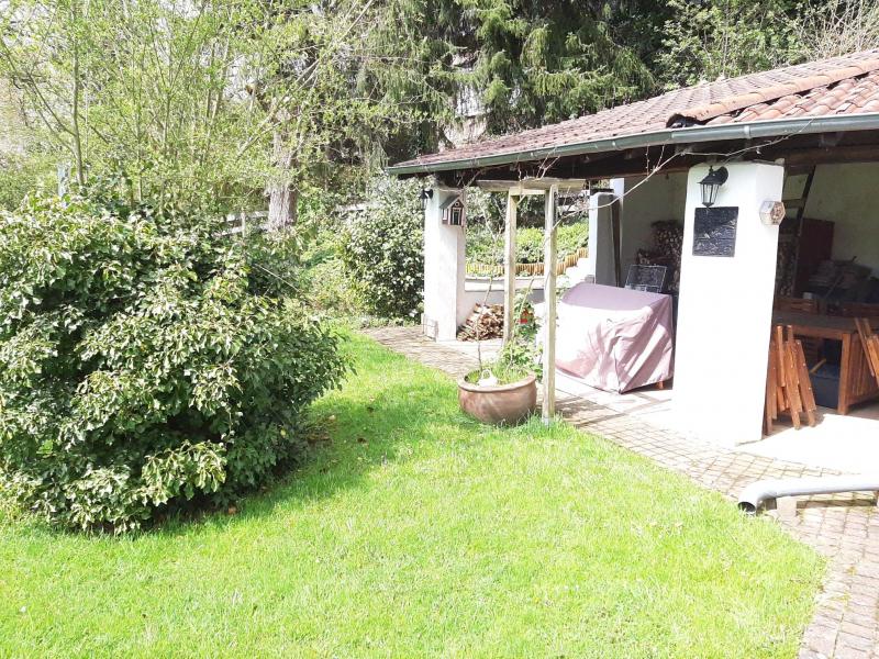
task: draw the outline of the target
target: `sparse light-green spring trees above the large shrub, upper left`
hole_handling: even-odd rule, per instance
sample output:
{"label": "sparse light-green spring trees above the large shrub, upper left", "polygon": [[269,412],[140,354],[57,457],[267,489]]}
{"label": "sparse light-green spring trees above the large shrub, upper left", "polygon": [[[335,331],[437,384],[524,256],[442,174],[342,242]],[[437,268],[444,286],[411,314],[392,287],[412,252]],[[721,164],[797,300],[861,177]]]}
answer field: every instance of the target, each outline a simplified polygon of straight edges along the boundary
{"label": "sparse light-green spring trees above the large shrub, upper left", "polygon": [[[26,139],[79,183],[121,174],[134,199],[168,191],[229,210],[267,189],[305,192],[381,163],[410,121],[404,62],[372,25],[387,3],[342,0],[10,0],[0,12],[8,80]],[[2,102],[0,102],[2,110]]]}

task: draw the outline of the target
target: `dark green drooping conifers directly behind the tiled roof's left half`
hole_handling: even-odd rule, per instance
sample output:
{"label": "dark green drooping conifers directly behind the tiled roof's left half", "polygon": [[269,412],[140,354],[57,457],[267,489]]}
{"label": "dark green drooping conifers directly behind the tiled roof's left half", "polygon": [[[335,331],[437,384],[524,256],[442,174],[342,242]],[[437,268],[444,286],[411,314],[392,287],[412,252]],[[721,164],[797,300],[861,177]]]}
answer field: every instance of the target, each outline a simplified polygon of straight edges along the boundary
{"label": "dark green drooping conifers directly behind the tiled roof's left half", "polygon": [[[646,0],[391,0],[376,27],[386,56],[404,63],[391,90],[421,112],[392,159],[454,142],[478,116],[490,134],[543,125],[643,98],[668,12]],[[453,129],[453,131],[449,131]]]}

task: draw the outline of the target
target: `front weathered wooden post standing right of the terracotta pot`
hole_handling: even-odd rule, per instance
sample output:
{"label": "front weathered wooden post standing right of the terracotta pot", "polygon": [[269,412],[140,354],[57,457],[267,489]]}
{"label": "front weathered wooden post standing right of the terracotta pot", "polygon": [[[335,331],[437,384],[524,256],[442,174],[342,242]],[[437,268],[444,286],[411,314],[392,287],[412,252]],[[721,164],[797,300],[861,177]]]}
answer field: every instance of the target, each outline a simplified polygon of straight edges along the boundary
{"label": "front weathered wooden post standing right of the terracotta pot", "polygon": [[543,411],[545,424],[556,415],[556,194],[558,186],[550,186],[544,198],[544,256],[543,256]]}

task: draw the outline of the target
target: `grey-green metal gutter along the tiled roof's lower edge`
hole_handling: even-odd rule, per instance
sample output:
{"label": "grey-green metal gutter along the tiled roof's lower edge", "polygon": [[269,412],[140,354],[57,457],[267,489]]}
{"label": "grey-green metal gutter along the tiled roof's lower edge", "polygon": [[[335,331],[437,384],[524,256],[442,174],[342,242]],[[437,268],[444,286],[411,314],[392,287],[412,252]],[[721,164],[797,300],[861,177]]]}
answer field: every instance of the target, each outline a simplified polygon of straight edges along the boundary
{"label": "grey-green metal gutter along the tiled roof's lower edge", "polygon": [[514,152],[509,154],[488,155],[476,158],[460,158],[434,164],[401,164],[388,167],[392,176],[429,175],[439,171],[478,169],[532,163],[545,158],[579,156],[592,153],[604,153],[641,148],[645,146],[663,146],[693,144],[700,142],[719,142],[726,139],[753,139],[755,137],[783,137],[790,135],[809,135],[815,133],[841,131],[879,130],[879,112],[833,116],[799,116],[795,119],[772,119],[741,124],[721,124],[713,126],[690,126],[685,129],[665,129],[635,135],[623,135],[605,139],[578,142],[564,146]]}

